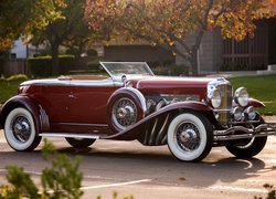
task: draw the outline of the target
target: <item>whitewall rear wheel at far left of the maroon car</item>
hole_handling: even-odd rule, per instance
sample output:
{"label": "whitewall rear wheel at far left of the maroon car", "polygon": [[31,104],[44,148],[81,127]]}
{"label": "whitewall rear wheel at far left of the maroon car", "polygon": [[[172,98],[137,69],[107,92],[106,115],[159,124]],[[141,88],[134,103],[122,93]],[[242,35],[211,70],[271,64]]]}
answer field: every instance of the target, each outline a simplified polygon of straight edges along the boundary
{"label": "whitewall rear wheel at far left of the maroon car", "polygon": [[4,136],[8,144],[19,151],[33,150],[41,142],[31,113],[23,107],[12,109],[7,116]]}

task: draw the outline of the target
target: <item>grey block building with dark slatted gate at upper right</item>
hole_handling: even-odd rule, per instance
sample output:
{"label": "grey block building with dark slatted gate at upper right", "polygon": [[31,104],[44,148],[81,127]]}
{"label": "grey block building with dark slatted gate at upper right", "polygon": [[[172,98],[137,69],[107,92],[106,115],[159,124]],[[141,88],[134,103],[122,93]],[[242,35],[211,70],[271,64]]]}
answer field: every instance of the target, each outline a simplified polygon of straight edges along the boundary
{"label": "grey block building with dark slatted gate at upper right", "polygon": [[[243,41],[224,40],[220,30],[204,34],[199,50],[199,67],[201,74],[238,70],[265,70],[268,64],[276,63],[276,19],[256,21],[255,36],[246,36]],[[193,35],[187,38],[188,42]],[[177,64],[185,61],[177,56]]]}

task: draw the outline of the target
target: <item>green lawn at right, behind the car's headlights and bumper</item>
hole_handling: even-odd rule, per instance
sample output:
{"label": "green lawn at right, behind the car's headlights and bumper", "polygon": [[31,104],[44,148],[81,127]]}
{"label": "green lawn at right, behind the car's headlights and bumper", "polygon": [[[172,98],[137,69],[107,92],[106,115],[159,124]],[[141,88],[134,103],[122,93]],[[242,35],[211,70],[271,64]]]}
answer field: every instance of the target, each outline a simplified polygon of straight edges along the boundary
{"label": "green lawn at right, behind the car's headlights and bumper", "polygon": [[229,78],[234,91],[246,87],[250,96],[263,102],[266,108],[258,112],[265,115],[276,115],[276,75],[238,76]]}

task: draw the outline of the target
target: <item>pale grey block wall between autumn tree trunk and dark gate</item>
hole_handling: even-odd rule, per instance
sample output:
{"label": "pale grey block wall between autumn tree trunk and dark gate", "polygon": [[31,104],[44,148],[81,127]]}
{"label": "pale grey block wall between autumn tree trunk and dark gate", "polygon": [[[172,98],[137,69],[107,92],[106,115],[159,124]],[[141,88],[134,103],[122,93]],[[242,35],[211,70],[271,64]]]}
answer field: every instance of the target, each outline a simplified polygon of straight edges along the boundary
{"label": "pale grey block wall between autumn tree trunk and dark gate", "polygon": [[[187,43],[191,46],[195,36],[190,34],[185,38]],[[181,50],[181,46],[178,45]],[[213,73],[220,70],[222,64],[222,38],[219,30],[205,32],[199,50],[200,74]],[[177,64],[190,65],[181,56],[177,55]]]}

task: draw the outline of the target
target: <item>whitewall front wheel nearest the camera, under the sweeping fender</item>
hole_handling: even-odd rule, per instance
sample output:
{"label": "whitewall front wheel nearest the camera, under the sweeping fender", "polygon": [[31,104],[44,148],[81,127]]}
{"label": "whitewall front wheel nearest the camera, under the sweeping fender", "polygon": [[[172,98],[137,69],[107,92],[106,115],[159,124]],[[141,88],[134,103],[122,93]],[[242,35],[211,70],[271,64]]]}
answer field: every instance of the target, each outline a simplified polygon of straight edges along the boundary
{"label": "whitewall front wheel nearest the camera, under the sweeping fender", "polygon": [[174,117],[168,129],[168,146],[182,161],[200,161],[213,145],[210,122],[202,115],[184,113]]}

